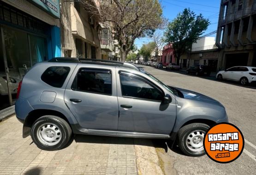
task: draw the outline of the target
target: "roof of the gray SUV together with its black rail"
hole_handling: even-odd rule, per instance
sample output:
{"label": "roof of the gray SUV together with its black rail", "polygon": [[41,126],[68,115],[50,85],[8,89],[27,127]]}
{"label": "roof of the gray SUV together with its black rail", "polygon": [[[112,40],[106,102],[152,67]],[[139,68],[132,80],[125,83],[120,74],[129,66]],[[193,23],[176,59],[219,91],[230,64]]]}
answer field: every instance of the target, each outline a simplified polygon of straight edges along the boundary
{"label": "roof of the gray SUV together with its black rail", "polygon": [[118,61],[111,61],[111,60],[99,60],[99,59],[85,59],[85,58],[72,58],[72,57],[56,57],[48,62],[63,62],[63,63],[82,63],[82,64],[95,64],[95,65],[107,65],[107,66],[113,66],[113,67],[123,67],[123,68],[130,68],[133,70],[141,71],[140,68],[138,68],[133,63],[128,62],[118,62]]}

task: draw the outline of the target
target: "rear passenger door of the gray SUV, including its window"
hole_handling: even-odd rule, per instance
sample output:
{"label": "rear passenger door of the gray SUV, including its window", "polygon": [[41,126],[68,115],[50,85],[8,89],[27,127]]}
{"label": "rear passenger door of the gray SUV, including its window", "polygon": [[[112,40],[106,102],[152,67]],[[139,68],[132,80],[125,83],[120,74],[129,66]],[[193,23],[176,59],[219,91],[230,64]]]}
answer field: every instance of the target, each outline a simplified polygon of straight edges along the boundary
{"label": "rear passenger door of the gray SUV, including its window", "polygon": [[81,127],[117,130],[115,68],[87,66],[78,65],[72,74],[65,90],[65,103]]}

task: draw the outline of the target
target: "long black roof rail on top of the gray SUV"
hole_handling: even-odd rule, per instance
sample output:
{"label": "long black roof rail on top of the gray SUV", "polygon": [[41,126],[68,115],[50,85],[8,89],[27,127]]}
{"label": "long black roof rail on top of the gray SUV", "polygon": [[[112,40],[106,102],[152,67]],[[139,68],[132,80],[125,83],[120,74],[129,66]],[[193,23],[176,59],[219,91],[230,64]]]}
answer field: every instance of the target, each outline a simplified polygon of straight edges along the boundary
{"label": "long black roof rail on top of the gray SUV", "polygon": [[88,58],[71,58],[71,57],[56,57],[48,62],[109,62],[123,65],[123,62],[111,61],[111,60],[100,60],[100,59],[88,59]]}

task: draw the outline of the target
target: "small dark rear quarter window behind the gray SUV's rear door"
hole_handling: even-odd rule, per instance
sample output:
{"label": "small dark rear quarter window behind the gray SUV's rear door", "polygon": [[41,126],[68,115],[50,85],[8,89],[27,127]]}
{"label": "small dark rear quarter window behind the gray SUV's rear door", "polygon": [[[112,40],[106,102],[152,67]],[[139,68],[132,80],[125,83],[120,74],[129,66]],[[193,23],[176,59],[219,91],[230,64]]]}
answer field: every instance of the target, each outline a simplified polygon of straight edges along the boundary
{"label": "small dark rear quarter window behind the gray SUV's rear door", "polygon": [[41,79],[48,85],[60,88],[65,82],[65,79],[67,78],[69,71],[70,71],[69,67],[62,67],[62,66],[49,67],[46,69],[46,71],[44,71],[44,73],[41,76]]}

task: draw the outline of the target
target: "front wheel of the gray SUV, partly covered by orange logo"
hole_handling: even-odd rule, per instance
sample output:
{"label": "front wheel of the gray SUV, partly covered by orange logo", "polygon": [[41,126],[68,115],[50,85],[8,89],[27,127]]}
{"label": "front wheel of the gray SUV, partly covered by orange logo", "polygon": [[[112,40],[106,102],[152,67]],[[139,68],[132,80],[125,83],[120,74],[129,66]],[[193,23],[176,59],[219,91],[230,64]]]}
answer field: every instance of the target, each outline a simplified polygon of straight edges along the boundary
{"label": "front wheel of the gray SUV, partly covered by orange logo", "polygon": [[[178,132],[178,144],[181,151],[187,155],[187,156],[193,156],[198,157],[205,154],[203,146],[198,148],[198,150],[192,148],[192,146],[188,143],[193,141],[198,141],[197,138],[199,138],[199,143],[193,143],[198,144],[198,146],[201,146],[203,143],[203,135],[206,133],[206,131],[209,129],[209,126],[207,124],[202,123],[193,123],[183,126],[179,132]],[[203,133],[204,132],[204,133]],[[195,135],[195,137],[190,137],[191,134],[196,133],[198,136]],[[187,139],[191,138],[191,140]],[[202,141],[202,142],[201,142]],[[189,146],[190,145],[190,146]]]}

